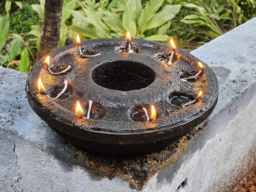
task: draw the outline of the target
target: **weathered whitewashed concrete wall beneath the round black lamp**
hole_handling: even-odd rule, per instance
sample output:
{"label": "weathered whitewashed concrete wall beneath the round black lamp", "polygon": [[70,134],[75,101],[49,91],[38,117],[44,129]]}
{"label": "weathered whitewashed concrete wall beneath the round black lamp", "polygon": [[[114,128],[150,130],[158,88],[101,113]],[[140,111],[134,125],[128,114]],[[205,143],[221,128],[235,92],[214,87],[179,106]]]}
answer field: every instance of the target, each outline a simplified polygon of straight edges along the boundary
{"label": "weathered whitewashed concrete wall beneath the round black lamp", "polygon": [[[219,101],[201,134],[142,191],[225,191],[255,162],[256,19],[192,54],[220,85]],[[119,177],[94,173],[74,148],[30,108],[26,74],[0,67],[0,191],[137,191]]]}

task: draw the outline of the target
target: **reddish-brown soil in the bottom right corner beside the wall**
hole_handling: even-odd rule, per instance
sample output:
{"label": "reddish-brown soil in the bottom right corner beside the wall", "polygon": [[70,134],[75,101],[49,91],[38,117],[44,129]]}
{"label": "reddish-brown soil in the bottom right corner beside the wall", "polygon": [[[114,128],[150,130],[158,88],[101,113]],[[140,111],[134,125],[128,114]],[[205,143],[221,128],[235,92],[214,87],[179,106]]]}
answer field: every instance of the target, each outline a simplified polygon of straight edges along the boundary
{"label": "reddish-brown soil in the bottom right corner beside the wall", "polygon": [[[232,192],[256,192],[256,166],[251,170]],[[230,192],[231,192],[230,191]]]}

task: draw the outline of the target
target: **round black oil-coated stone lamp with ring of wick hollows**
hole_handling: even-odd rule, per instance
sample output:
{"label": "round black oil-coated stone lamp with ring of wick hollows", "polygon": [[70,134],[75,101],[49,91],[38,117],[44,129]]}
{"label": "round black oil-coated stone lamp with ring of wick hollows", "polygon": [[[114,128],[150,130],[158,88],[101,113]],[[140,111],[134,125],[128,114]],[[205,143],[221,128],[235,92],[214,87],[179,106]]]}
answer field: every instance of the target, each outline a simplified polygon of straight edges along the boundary
{"label": "round black oil-coated stone lamp with ring of wick hollows", "polygon": [[[128,54],[124,38],[81,41],[83,54],[101,53],[96,57],[82,57],[76,43],[71,40],[67,44],[48,54],[52,58],[50,68],[72,68],[52,75],[44,68],[46,57],[42,58],[29,72],[26,92],[31,108],[40,118],[84,149],[120,155],[159,150],[206,120],[217,103],[217,77],[206,64],[195,80],[180,80],[182,74],[200,70],[200,60],[181,49],[175,50],[168,66],[172,50],[163,43],[132,39],[134,53]],[[61,91],[66,79],[65,94],[53,100],[39,93],[39,77],[52,97]],[[200,90],[201,99],[185,108],[179,106],[183,98],[194,100]],[[84,116],[88,101],[93,101],[90,119],[76,115],[77,100]],[[151,104],[157,110],[157,119],[147,122],[142,108],[150,113]]]}

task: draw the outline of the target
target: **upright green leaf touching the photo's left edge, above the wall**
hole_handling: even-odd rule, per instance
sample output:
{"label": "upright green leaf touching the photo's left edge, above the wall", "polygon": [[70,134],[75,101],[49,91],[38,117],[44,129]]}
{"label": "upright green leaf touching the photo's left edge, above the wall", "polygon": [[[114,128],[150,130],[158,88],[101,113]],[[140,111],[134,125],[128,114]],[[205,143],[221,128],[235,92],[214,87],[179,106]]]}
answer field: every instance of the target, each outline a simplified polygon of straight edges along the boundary
{"label": "upright green leaf touching the photo's left edge, above the wall", "polygon": [[10,27],[9,14],[0,19],[0,52],[5,45]]}

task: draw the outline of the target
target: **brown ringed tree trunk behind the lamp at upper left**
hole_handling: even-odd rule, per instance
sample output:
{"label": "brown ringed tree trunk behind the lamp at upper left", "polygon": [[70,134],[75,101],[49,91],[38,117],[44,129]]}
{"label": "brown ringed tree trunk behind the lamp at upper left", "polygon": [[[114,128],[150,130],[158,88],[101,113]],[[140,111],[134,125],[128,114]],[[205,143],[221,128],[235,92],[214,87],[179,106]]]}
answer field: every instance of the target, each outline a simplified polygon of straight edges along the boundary
{"label": "brown ringed tree trunk behind the lamp at upper left", "polygon": [[44,6],[44,24],[41,34],[38,61],[48,53],[57,49],[60,38],[60,23],[64,0],[46,0]]}

